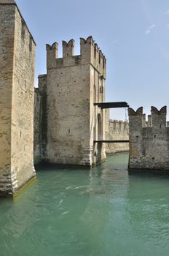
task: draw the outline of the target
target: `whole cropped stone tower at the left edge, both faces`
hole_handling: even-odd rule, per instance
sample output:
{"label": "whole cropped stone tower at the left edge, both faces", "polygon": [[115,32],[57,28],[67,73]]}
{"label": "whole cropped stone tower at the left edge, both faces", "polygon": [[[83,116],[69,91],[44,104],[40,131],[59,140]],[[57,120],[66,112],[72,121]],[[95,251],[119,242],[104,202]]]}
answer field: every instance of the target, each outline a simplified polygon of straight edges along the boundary
{"label": "whole cropped stone tower at the left edge, both faces", "polygon": [[13,0],[0,0],[0,195],[35,176],[35,42]]}

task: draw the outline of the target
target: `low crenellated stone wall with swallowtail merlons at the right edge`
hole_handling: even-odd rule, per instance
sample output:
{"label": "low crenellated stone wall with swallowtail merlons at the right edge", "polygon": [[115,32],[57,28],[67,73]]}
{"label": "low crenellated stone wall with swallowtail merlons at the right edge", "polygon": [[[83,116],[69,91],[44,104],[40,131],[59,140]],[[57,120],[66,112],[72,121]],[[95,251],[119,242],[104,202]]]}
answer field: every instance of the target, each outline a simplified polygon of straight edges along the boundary
{"label": "low crenellated stone wall with swallowtail merlons at the right edge", "polygon": [[169,170],[169,127],[166,106],[146,116],[143,108],[128,110],[130,134],[129,170]]}

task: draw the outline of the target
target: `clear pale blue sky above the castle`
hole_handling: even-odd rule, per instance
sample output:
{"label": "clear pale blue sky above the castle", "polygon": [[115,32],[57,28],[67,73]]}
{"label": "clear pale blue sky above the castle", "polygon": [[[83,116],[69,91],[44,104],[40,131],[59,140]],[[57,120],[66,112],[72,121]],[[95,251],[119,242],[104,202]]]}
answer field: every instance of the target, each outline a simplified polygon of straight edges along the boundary
{"label": "clear pale blue sky above the castle", "polygon": [[[106,102],[136,110],[169,102],[169,1],[16,0],[36,41],[37,76],[46,73],[46,44],[92,35],[107,59]],[[111,118],[125,119],[125,109]],[[169,110],[168,110],[169,112]],[[168,114],[169,120],[169,114]]]}

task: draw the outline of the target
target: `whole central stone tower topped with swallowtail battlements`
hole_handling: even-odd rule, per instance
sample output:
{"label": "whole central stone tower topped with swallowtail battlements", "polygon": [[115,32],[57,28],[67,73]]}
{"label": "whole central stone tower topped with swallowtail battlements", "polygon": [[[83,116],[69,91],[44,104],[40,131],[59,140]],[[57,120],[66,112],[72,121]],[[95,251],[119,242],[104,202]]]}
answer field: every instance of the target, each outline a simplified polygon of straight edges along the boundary
{"label": "whole central stone tower topped with swallowtail battlements", "polygon": [[47,95],[45,162],[92,166],[106,157],[104,144],[94,143],[105,137],[105,113],[94,103],[105,99],[106,58],[93,37],[80,46],[74,56],[74,39],[63,41],[58,59],[58,43],[47,45],[47,75],[39,76]]}

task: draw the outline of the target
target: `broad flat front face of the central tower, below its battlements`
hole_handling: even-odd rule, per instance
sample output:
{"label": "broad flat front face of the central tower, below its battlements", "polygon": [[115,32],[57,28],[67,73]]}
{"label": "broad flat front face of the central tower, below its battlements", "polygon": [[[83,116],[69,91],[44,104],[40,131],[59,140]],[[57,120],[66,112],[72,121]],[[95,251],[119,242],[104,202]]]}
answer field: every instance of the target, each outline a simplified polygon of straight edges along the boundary
{"label": "broad flat front face of the central tower, below its battlements", "polygon": [[47,162],[81,164],[90,146],[89,97],[89,64],[48,70]]}

